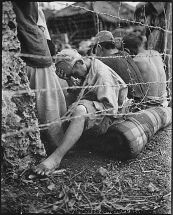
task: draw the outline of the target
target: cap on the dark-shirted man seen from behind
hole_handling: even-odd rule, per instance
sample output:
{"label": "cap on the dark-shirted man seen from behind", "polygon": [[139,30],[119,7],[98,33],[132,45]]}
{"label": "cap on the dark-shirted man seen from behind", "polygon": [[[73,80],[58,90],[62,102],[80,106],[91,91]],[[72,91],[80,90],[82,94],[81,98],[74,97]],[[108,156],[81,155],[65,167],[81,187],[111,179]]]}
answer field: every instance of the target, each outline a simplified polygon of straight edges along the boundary
{"label": "cap on the dark-shirted man seen from behind", "polygon": [[95,44],[102,42],[115,42],[114,36],[110,31],[100,31],[95,36]]}

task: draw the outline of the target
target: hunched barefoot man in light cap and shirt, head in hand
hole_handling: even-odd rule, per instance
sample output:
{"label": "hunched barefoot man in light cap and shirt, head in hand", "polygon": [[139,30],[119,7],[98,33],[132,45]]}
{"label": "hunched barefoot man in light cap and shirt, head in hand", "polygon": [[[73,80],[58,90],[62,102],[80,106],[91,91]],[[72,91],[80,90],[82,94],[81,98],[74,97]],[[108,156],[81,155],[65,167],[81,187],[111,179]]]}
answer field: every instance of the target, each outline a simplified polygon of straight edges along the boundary
{"label": "hunched barefoot man in light cap and shirt, head in hand", "polygon": [[128,111],[127,85],[101,61],[82,58],[76,50],[65,49],[58,55],[56,68],[61,78],[80,78],[83,85],[78,100],[66,114],[70,124],[60,145],[34,170],[40,175],[54,171],[85,130],[90,129],[95,136],[105,133],[115,118],[122,117]]}

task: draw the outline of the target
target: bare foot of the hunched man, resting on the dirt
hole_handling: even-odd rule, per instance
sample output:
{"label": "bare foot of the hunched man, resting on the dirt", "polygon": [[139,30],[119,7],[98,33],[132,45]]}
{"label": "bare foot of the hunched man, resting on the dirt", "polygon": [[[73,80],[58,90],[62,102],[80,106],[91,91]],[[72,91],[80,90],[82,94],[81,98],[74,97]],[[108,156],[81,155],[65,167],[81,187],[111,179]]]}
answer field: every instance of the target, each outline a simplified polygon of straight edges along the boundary
{"label": "bare foot of the hunched man, resting on the dirt", "polygon": [[53,153],[46,160],[37,165],[33,171],[38,175],[49,175],[59,167],[60,161],[61,159],[57,159]]}

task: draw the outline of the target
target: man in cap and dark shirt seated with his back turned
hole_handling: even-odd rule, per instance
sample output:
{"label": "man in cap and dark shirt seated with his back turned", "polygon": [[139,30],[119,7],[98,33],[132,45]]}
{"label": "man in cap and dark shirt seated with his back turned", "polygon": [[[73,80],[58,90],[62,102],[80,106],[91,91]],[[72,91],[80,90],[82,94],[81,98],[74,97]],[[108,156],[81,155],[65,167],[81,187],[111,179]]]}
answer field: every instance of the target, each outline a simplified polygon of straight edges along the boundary
{"label": "man in cap and dark shirt seated with his back turned", "polygon": [[128,98],[139,101],[144,97],[144,87],[135,85],[143,82],[138,67],[128,53],[115,47],[115,39],[110,31],[100,31],[95,36],[93,53],[99,57],[99,60],[113,69],[126,84],[129,84]]}

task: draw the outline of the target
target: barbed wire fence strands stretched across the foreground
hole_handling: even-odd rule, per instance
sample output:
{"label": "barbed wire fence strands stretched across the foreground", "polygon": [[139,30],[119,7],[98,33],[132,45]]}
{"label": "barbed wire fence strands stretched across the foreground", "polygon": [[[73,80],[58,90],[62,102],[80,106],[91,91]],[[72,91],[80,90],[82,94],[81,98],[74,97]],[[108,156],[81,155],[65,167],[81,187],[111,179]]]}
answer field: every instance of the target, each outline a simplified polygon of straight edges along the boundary
{"label": "barbed wire fence strands stretched across the foreground", "polygon": [[[61,4],[66,4],[66,3],[61,3]],[[66,4],[67,5],[67,4]],[[144,24],[144,23],[141,23],[141,22],[135,22],[135,21],[133,21],[133,20],[128,20],[128,19],[123,19],[123,18],[120,18],[120,15],[119,15],[119,11],[120,11],[120,7],[121,7],[121,2],[120,2],[120,4],[119,4],[119,9],[118,9],[118,16],[113,16],[113,15],[111,15],[111,14],[108,14],[108,13],[101,13],[101,12],[98,12],[98,11],[95,11],[95,10],[89,10],[89,9],[87,9],[87,8],[85,8],[85,7],[80,7],[80,6],[76,6],[76,5],[70,5],[71,7],[75,7],[75,8],[81,8],[81,9],[83,9],[83,10],[86,10],[86,11],[88,11],[88,12],[91,12],[91,13],[94,13],[95,15],[96,15],[96,17],[97,17],[97,19],[96,19],[96,26],[98,27],[98,32],[99,32],[99,22],[100,22],[100,18],[99,18],[99,15],[100,14],[102,14],[102,15],[106,15],[106,16],[110,16],[110,17],[112,17],[112,18],[115,18],[115,19],[118,19],[118,20],[121,20],[121,21],[125,21],[125,22],[129,22],[129,23],[131,23],[131,24],[139,24],[139,25],[141,25],[141,26],[144,26],[144,27],[147,27],[147,28],[154,28],[154,29],[159,29],[159,30],[162,30],[162,31],[164,31],[164,32],[166,32],[167,34],[169,33],[169,34],[172,34],[172,31],[170,31],[170,30],[168,30],[168,27],[169,26],[166,26],[166,29],[163,29],[163,28],[161,28],[161,27],[159,27],[159,26],[149,26],[149,25],[147,25],[147,24]],[[172,44],[171,44],[171,47],[172,47]],[[3,53],[2,53],[3,54]],[[7,53],[8,55],[10,55],[10,56],[15,56],[15,57],[34,57],[34,58],[37,58],[37,59],[46,59],[47,57],[45,57],[45,56],[39,56],[39,55],[31,55],[31,54],[23,54],[23,53],[16,53],[16,52],[8,52]],[[172,57],[172,48],[171,48],[171,50],[170,50],[170,53],[168,54],[167,52],[166,52],[166,49],[164,49],[164,52],[163,53],[160,53],[159,55],[162,55],[162,56],[168,56],[169,57],[169,59]],[[153,56],[153,55],[150,55],[150,56]],[[120,58],[120,57],[125,57],[126,58],[126,56],[118,56],[118,58]],[[96,56],[94,56],[94,58],[97,58]],[[101,58],[101,57],[99,57],[99,58]],[[102,57],[102,58],[104,58],[104,57]],[[107,58],[107,57],[106,57]],[[109,56],[109,58],[117,58],[117,56]],[[128,65],[128,63],[127,63],[127,66],[128,66],[128,71],[127,72],[129,72],[129,75],[130,75],[130,69],[129,69],[129,65]],[[172,83],[172,74],[171,74],[171,71],[169,71],[169,74],[168,74],[168,80],[166,81],[166,82],[164,82],[164,83],[166,83],[166,84],[170,84],[170,83]],[[153,83],[163,83],[163,82],[147,82],[147,83],[129,83],[129,84],[127,84],[127,86],[137,86],[137,85],[149,85],[149,84],[153,84]],[[51,89],[52,91],[57,91],[57,90],[64,90],[64,89],[81,89],[81,91],[82,91],[82,93],[80,93],[80,95],[79,95],[79,97],[78,97],[78,100],[77,100],[77,102],[80,100],[80,98],[83,96],[83,93],[84,93],[84,91],[85,91],[85,89],[89,89],[89,88],[92,88],[92,87],[102,87],[102,86],[104,86],[104,85],[97,85],[97,86],[74,86],[74,87],[63,87],[62,89]],[[109,86],[109,87],[117,87],[117,86]],[[3,91],[5,91],[5,90],[2,90],[2,94],[3,94]],[[26,93],[28,93],[28,94],[32,94],[32,93],[37,93],[37,92],[41,92],[41,91],[47,91],[47,89],[39,89],[39,90],[37,90],[37,89],[29,89],[29,90],[17,90],[17,91],[13,91],[13,90],[8,90],[8,93],[9,93],[9,95],[10,96],[19,96],[19,95],[21,95],[21,94],[26,94]],[[146,96],[146,95],[144,95],[144,96]],[[169,96],[168,96],[168,100],[171,100],[172,99],[172,94],[171,94],[171,92],[169,92]],[[155,99],[151,99],[151,102],[155,102],[156,100]],[[139,103],[136,103],[136,105],[139,105],[139,104],[142,104],[144,107],[146,106],[147,107],[147,105],[146,105],[146,103],[145,103],[145,101],[141,101],[141,102],[139,102]],[[77,103],[76,103],[76,105],[77,105]],[[108,110],[105,110],[105,111],[97,111],[97,112],[95,112],[95,113],[89,113],[89,114],[86,114],[86,116],[88,116],[88,115],[92,115],[92,114],[96,114],[96,115],[98,115],[99,116],[99,114],[102,114],[102,115],[109,115],[109,113],[107,113],[108,111],[110,111],[110,110],[112,110],[112,109],[108,109]],[[65,122],[65,121],[70,121],[70,120],[72,120],[72,119],[75,119],[76,117],[80,117],[80,116],[73,116],[72,114],[73,114],[73,111],[74,111],[74,109],[72,110],[72,109],[70,109],[70,112],[68,111],[64,116],[62,116],[61,117],[61,122]],[[128,115],[128,114],[130,114],[130,115],[137,115],[137,114],[141,114],[141,113],[143,113],[143,111],[144,110],[141,110],[141,111],[139,111],[139,112],[135,112],[135,113],[133,113],[133,112],[130,112],[130,113],[127,113],[127,114],[117,114],[117,117],[122,117],[122,116],[125,116],[125,115]],[[38,125],[38,127],[37,127],[37,129],[39,129],[40,131],[41,130],[46,130],[50,125],[52,125],[52,124],[54,124],[54,123],[58,123],[59,121],[54,121],[54,122],[48,122],[48,123],[45,123],[45,124],[39,124]],[[23,128],[23,129],[20,129],[20,130],[18,130],[18,131],[14,131],[14,132],[7,132],[7,133],[5,133],[5,134],[2,134],[2,139],[4,139],[5,140],[5,138],[6,137],[9,137],[9,136],[14,136],[14,135],[16,135],[16,134],[20,134],[20,133],[23,133],[23,132],[29,132],[29,131],[34,131],[36,129],[36,127],[35,126],[33,126],[33,127],[27,127],[27,128]]]}

